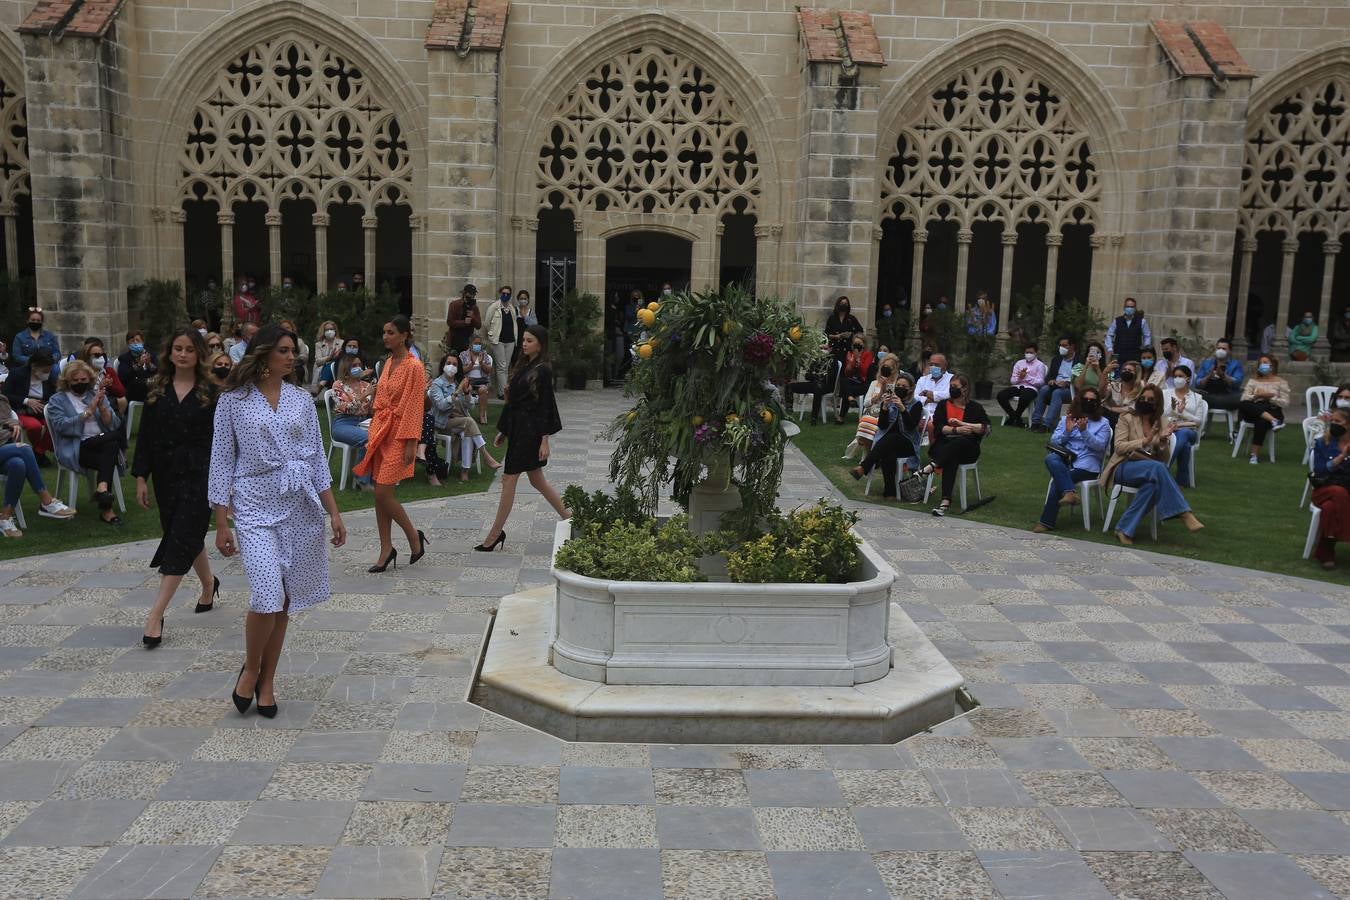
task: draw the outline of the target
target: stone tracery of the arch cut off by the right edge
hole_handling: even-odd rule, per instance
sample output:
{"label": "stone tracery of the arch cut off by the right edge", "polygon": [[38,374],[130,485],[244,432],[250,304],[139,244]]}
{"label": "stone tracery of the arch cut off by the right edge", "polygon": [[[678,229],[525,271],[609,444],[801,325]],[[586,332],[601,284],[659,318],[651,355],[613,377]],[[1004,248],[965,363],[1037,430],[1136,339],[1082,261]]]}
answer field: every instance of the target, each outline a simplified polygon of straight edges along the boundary
{"label": "stone tracery of the arch cut off by the right edge", "polygon": [[1350,231],[1350,77],[1314,81],[1249,123],[1241,196],[1249,237]]}

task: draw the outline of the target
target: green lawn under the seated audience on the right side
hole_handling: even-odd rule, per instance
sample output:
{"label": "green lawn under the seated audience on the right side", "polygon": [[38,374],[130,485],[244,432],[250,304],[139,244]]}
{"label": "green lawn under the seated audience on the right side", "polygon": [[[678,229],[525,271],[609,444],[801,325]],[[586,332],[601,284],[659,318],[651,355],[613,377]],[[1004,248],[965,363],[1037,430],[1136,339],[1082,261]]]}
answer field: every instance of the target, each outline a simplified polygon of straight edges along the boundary
{"label": "green lawn under the seated audience on the right side", "polygon": [[[992,495],[995,499],[967,515],[980,522],[1030,530],[1040,518],[1045,503],[1045,487],[1049,483],[1049,474],[1042,461],[1049,434],[1003,428],[998,425],[1002,416],[998,403],[984,401],[983,405],[995,425],[994,432],[984,439],[980,484],[984,497]],[[864,482],[855,482],[848,474],[853,463],[840,459],[853,439],[855,428],[856,416],[848,425],[807,425],[794,443],[846,497],[880,503],[880,472],[872,478],[872,497],[865,498]],[[1300,559],[1308,534],[1310,514],[1307,507],[1297,507],[1307,472],[1307,467],[1300,464],[1303,432],[1297,424],[1291,424],[1276,436],[1278,461],[1274,466],[1264,452],[1260,466],[1249,466],[1245,453],[1231,459],[1233,447],[1223,432],[1222,422],[1218,420],[1211,422],[1208,433],[1196,448],[1195,474],[1199,487],[1187,491],[1187,499],[1196,517],[1204,522],[1204,530],[1191,534],[1180,522],[1162,522],[1158,526],[1158,541],[1154,544],[1145,524],[1135,534],[1135,546],[1187,559],[1350,584],[1350,548],[1342,545],[1339,551],[1342,567],[1330,573],[1323,572],[1315,561]],[[967,490],[973,503],[973,479]],[[1116,518],[1120,515],[1123,501],[1125,498],[1116,506]],[[953,502],[960,503],[959,493],[953,495]],[[936,505],[936,486],[926,506],[900,503],[906,509],[922,510]],[[1056,533],[1116,544],[1114,533],[1102,533],[1103,511],[1094,503],[1094,529],[1091,533],[1084,533],[1081,511],[1064,507],[1060,511]],[[949,514],[959,514],[954,505]]]}

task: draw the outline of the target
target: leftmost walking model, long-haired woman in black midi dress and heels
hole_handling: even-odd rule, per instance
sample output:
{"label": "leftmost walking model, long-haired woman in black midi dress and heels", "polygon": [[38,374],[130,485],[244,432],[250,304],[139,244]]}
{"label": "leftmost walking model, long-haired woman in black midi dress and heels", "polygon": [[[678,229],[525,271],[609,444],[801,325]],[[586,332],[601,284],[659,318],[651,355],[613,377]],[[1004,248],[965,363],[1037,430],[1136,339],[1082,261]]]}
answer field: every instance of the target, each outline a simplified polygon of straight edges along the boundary
{"label": "leftmost walking model, long-haired woman in black midi dress and heels", "polygon": [[147,480],[155,486],[163,538],[150,565],[159,568],[159,592],[150,607],[142,641],[155,648],[163,638],[163,615],[188,569],[201,579],[197,613],[212,607],[220,580],[207,559],[207,528],[211,503],[207,475],[211,471],[211,437],[216,393],[207,368],[207,344],[192,328],[169,339],[165,364],[151,382],[140,417],[131,474],[136,476],[136,502],[150,509]]}

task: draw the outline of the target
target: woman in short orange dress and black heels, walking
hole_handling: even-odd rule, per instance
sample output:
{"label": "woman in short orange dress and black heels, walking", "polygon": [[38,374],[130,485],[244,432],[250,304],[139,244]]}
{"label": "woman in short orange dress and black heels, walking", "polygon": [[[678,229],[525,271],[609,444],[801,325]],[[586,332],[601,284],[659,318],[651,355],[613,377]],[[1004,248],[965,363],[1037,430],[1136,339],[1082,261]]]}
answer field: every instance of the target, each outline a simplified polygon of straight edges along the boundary
{"label": "woman in short orange dress and black heels, walking", "polygon": [[385,322],[385,359],[375,387],[374,417],[370,424],[366,457],[352,471],[375,479],[375,529],[379,532],[379,561],[370,572],[383,572],[398,559],[394,549],[393,525],[397,522],[408,538],[412,565],[427,555],[427,536],[413,528],[408,511],[394,495],[398,482],[413,476],[417,443],[423,436],[423,414],[427,405],[427,372],[413,359],[413,327],[406,316],[394,316]]}

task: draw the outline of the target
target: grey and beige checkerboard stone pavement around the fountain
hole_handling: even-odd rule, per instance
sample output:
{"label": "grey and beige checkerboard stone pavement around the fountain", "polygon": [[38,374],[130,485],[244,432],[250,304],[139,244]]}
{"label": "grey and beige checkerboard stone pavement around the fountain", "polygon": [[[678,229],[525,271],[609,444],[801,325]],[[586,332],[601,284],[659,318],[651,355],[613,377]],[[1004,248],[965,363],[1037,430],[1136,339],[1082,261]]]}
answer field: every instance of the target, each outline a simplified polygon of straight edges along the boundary
{"label": "grey and beige checkerboard stone pavement around the fountain", "polygon": [[[621,397],[560,399],[548,474],[601,486]],[[784,480],[833,494],[795,451]],[[489,610],[547,582],[529,488],[470,552],[495,502],[413,506],[431,552],[383,576],[350,514],[273,721],[227,696],[238,561],[154,652],[153,544],[0,563],[0,896],[1350,895],[1343,588],[868,506],[979,708],[894,746],[567,743],[464,702]]]}

